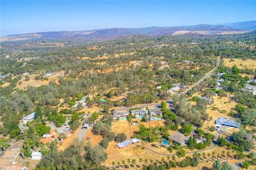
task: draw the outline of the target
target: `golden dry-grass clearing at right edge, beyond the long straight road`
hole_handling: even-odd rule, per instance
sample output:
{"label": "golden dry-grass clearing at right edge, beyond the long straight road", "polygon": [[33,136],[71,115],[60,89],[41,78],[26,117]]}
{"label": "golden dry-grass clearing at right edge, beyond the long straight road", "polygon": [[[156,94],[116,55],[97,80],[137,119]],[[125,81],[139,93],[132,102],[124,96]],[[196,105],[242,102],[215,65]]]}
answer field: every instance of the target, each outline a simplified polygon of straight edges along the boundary
{"label": "golden dry-grass clearing at right edge, beyond the long straight road", "polygon": [[[256,61],[255,60],[252,60],[252,59],[247,59],[247,60],[242,60],[242,59],[233,59],[234,61],[232,62],[229,62],[231,59],[222,59],[224,61],[224,65],[225,66],[228,66],[228,67],[232,67],[236,64],[236,66],[239,68],[239,69],[245,69],[245,68],[248,68],[248,69],[256,69]],[[242,66],[240,66],[240,64],[242,64]]]}

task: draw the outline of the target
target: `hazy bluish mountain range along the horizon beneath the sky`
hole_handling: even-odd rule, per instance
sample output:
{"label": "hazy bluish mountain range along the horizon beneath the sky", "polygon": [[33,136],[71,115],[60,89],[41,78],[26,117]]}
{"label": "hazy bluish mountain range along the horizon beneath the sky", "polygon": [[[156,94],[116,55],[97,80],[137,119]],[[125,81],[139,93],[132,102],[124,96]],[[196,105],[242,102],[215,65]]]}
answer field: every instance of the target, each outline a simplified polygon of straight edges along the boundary
{"label": "hazy bluish mountain range along the horizon beneath the sky", "polygon": [[166,34],[216,34],[227,31],[252,31],[256,30],[256,21],[245,21],[236,23],[224,23],[216,25],[193,25],[193,26],[177,26],[177,27],[145,27],[145,28],[111,28],[96,29],[89,31],[52,31],[41,33],[28,33],[18,35],[7,35],[1,37],[0,41],[24,41],[24,40],[106,40],[121,37],[129,37],[133,35],[150,35],[159,36]]}

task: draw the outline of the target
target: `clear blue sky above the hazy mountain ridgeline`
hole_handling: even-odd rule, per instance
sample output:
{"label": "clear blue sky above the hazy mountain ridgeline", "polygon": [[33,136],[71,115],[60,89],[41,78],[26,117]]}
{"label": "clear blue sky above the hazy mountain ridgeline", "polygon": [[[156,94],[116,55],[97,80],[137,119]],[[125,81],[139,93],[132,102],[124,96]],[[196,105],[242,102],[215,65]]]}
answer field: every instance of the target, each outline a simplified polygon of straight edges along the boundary
{"label": "clear blue sky above the hazy mountain ridgeline", "polygon": [[0,1],[0,36],[256,20],[256,1]]}

